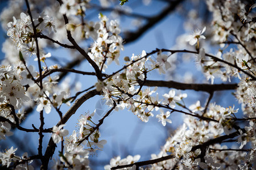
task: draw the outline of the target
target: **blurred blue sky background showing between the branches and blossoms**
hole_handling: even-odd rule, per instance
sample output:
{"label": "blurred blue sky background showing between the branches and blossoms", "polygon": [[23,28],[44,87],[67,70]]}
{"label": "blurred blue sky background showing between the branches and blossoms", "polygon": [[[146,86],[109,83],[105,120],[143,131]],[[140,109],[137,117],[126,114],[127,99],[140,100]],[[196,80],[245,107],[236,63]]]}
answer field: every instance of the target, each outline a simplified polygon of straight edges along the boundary
{"label": "blurred blue sky background showing between the branches and blossoms", "polygon": [[[40,1],[33,1],[41,3]],[[52,3],[50,1],[44,1]],[[0,52],[1,62],[5,61],[5,51],[8,50],[3,44],[9,37],[6,35],[6,23],[3,17],[8,16],[10,22],[13,21],[12,17],[16,15],[19,18],[20,11],[26,12],[26,6],[20,5],[20,11],[10,12],[10,1],[0,1],[1,24],[0,41],[2,44],[2,52]],[[14,1],[12,2],[14,3]],[[17,1],[17,3],[22,3]],[[42,10],[40,6],[35,8],[39,12]],[[35,12],[35,11],[34,11]],[[156,48],[166,49],[190,49],[195,50],[195,46],[189,45],[184,41],[184,37],[193,33],[196,28],[203,29],[207,27],[207,31],[204,35],[207,39],[200,41],[200,45],[204,46],[208,53],[216,54],[219,46],[214,46],[208,40],[210,37],[210,19],[211,13],[207,9],[205,1],[193,0],[193,1],[129,1],[123,6],[119,5],[119,1],[90,1],[90,5],[86,8],[86,20],[98,21],[98,14],[108,16],[109,19],[116,19],[120,23],[121,36],[124,40],[125,50],[121,52],[119,63],[117,66],[115,63],[110,65],[106,69],[107,74],[113,73],[123,65],[125,56],[131,57],[133,54],[140,55],[142,50],[150,53]],[[11,15],[14,13],[13,15]],[[60,39],[66,39],[66,35],[62,35]],[[40,40],[39,40],[40,41]],[[80,41],[79,44],[85,49],[93,42],[92,39],[87,41]],[[69,49],[56,48],[56,46],[47,46],[44,49],[46,52],[51,52],[52,57],[47,60],[47,65],[53,65],[54,63],[60,63],[61,67],[70,67],[76,70],[93,71],[88,62],[81,59],[78,53],[70,51]],[[227,49],[228,50],[228,49]],[[17,52],[18,54],[18,52]],[[14,56],[17,57],[18,56]],[[156,55],[151,56],[156,58]],[[184,83],[209,83],[201,73],[200,68],[195,64],[195,55],[191,54],[175,54],[169,57],[168,61],[171,63],[171,69],[166,74],[159,74],[154,70],[148,74],[150,80],[175,80],[177,82]],[[35,65],[34,58],[30,58],[28,61],[31,65]],[[57,75],[57,74],[56,74]],[[71,96],[75,95],[77,90],[85,90],[86,88],[94,85],[96,78],[93,76],[76,75],[73,73],[61,74],[59,83],[63,87],[70,86]],[[221,80],[215,79],[214,83],[221,83]],[[232,80],[234,83],[234,80]],[[151,87],[151,89],[154,89]],[[158,88],[159,96],[164,93],[168,93],[168,88]],[[181,91],[176,91],[177,93]],[[188,97],[184,99],[186,106],[195,104],[197,100],[201,101],[201,105],[204,106],[207,102],[209,95],[205,92],[196,92],[192,90],[182,91],[187,93]],[[155,94],[154,94],[155,95]],[[232,91],[216,92],[214,93],[212,102],[220,104],[223,107],[236,104],[232,96]],[[237,105],[238,106],[238,105]],[[68,110],[68,106],[61,107],[61,111],[65,113]],[[27,118],[22,123],[24,128],[32,128],[32,124],[35,127],[39,127],[39,113],[35,111],[35,108],[26,108]],[[76,114],[71,117],[67,122],[65,129],[69,130],[69,135],[73,130],[79,130],[77,125],[78,119],[81,114],[92,113],[96,109],[96,114],[93,117],[93,121],[97,124],[98,120],[104,116],[108,111],[108,106],[105,105],[105,101],[102,100],[102,96],[95,96],[92,99],[86,101],[77,110]],[[177,107],[177,109],[182,109]],[[155,115],[158,114],[155,112]],[[51,128],[59,121],[59,115],[52,109],[50,114],[44,114],[46,124],[45,128]],[[104,165],[109,164],[109,161],[114,156],[120,155],[121,158],[126,158],[127,155],[141,155],[140,161],[148,160],[151,158],[151,154],[158,154],[161,146],[164,145],[166,138],[175,133],[175,129],[183,123],[183,115],[181,113],[172,113],[170,116],[172,124],[162,126],[158,119],[151,117],[150,120],[145,123],[139,120],[133,113],[127,111],[114,111],[109,117],[104,120],[104,124],[100,126],[100,139],[108,141],[102,151],[97,151],[90,155],[90,167],[92,169],[103,169]],[[5,150],[11,146],[18,147],[16,151],[17,155],[22,155],[23,152],[28,152],[28,155],[36,155],[38,147],[37,133],[23,133],[13,129],[14,135],[8,137],[5,141],[0,141],[0,150]],[[50,134],[46,134],[44,137],[43,150],[45,151]],[[57,148],[60,150],[60,147]],[[53,158],[57,156],[57,150]],[[36,164],[40,162],[34,161],[35,169]]]}

